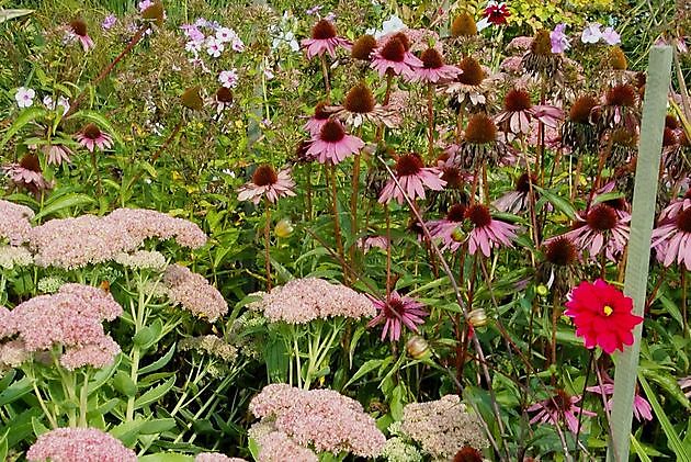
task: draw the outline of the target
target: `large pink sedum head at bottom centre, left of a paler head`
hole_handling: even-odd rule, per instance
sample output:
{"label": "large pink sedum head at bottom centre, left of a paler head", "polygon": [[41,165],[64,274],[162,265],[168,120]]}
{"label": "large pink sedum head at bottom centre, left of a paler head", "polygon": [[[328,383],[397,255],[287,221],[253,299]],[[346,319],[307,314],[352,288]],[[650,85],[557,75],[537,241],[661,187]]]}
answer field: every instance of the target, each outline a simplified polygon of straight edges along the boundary
{"label": "large pink sedum head at bottom centre, left of a paler head", "polygon": [[317,453],[344,451],[376,458],[386,441],[360,403],[332,390],[267,385],[250,402],[250,410],[291,441]]}

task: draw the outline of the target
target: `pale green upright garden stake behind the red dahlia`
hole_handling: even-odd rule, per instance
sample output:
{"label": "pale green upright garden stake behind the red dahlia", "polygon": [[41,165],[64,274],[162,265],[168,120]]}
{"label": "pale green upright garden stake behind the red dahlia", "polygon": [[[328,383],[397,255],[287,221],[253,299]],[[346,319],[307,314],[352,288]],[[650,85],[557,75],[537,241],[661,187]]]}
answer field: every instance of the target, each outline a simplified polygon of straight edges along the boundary
{"label": "pale green upright garden stake behind the red dahlia", "polygon": [[[650,259],[650,235],[655,216],[655,201],[662,150],[662,131],[667,113],[667,92],[671,76],[672,53],[669,46],[654,46],[648,60],[648,77],[643,104],[641,143],[636,164],[628,260],[624,293],[633,298],[633,313],[643,316]],[[639,324],[634,329],[634,342],[616,358],[612,405],[612,440],[608,447],[608,462],[628,460],[633,398],[641,353]]]}

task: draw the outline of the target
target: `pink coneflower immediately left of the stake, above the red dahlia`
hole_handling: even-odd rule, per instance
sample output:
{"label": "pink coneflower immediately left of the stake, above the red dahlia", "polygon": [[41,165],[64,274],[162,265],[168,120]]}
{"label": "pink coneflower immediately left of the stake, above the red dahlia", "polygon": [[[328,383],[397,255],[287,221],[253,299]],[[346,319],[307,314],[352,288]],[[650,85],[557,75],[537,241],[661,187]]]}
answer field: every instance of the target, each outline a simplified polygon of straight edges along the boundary
{"label": "pink coneflower immediately left of the stake, above the red dahlia", "polygon": [[616,210],[607,204],[598,204],[590,209],[585,217],[576,217],[576,228],[566,233],[580,251],[587,250],[591,259],[604,250],[608,259],[616,261],[628,241],[627,212]]}

